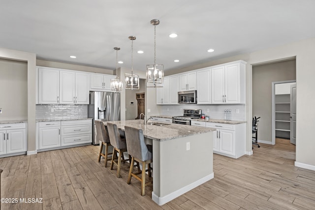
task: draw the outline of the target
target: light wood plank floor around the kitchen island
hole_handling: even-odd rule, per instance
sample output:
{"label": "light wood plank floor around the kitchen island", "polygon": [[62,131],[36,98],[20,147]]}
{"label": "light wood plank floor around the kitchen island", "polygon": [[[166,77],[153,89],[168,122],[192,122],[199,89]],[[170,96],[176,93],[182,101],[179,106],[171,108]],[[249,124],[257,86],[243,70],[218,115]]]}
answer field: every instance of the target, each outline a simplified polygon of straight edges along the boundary
{"label": "light wood plank floor around the kitchen island", "polygon": [[126,183],[127,163],[119,179],[104,159],[98,163],[95,146],[0,158],[2,198],[43,198],[2,209],[314,210],[315,171],[294,166],[295,146],[281,139],[260,145],[239,159],[214,154],[215,178],[161,207],[151,200],[152,185],[142,197],[139,181]]}

